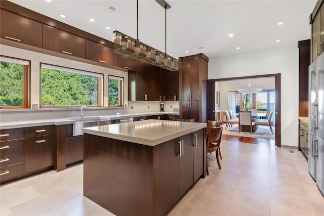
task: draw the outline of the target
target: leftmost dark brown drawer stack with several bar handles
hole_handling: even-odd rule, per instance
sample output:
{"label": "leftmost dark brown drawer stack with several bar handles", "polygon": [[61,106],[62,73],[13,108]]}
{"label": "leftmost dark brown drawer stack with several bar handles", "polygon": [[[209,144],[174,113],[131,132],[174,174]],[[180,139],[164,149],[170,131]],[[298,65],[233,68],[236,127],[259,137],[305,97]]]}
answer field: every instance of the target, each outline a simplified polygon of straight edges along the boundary
{"label": "leftmost dark brown drawer stack with several bar handles", "polygon": [[0,179],[5,182],[25,173],[25,129],[0,131]]}

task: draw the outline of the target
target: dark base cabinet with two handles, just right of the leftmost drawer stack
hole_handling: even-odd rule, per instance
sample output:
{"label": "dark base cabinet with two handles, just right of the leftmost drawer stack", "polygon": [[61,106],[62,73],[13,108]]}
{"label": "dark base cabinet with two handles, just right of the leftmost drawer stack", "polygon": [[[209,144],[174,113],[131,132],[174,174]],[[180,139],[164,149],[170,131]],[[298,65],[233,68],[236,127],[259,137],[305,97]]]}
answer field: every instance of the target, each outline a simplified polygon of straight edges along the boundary
{"label": "dark base cabinet with two handles, just right of the leftmost drawer stack", "polygon": [[53,125],[25,128],[26,173],[54,165]]}

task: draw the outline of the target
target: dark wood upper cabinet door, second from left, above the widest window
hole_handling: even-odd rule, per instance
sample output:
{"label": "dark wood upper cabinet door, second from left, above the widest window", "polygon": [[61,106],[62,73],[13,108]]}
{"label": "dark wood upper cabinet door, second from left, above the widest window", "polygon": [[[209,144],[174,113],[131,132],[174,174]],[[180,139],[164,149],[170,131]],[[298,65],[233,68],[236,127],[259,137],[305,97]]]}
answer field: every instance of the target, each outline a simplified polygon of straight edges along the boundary
{"label": "dark wood upper cabinet door, second from left, above the widest window", "polygon": [[86,57],[86,39],[69,32],[43,26],[43,48],[80,58]]}

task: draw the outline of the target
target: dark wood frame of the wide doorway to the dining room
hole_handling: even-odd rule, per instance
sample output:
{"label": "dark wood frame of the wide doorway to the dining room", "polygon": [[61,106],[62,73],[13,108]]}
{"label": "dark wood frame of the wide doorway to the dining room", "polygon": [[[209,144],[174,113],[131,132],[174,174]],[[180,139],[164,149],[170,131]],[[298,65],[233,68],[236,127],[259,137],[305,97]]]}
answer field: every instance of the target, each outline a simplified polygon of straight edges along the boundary
{"label": "dark wood frame of the wide doorway to the dining room", "polygon": [[277,147],[281,147],[281,117],[280,117],[280,111],[281,111],[281,74],[265,74],[265,75],[256,75],[256,76],[242,76],[242,77],[231,77],[231,78],[221,78],[221,79],[210,79],[208,80],[208,119],[215,119],[215,100],[219,98],[216,97],[215,91],[216,91],[216,82],[219,81],[231,81],[231,80],[240,80],[240,79],[255,79],[255,78],[269,78],[274,77],[274,124],[275,124],[275,145]]}

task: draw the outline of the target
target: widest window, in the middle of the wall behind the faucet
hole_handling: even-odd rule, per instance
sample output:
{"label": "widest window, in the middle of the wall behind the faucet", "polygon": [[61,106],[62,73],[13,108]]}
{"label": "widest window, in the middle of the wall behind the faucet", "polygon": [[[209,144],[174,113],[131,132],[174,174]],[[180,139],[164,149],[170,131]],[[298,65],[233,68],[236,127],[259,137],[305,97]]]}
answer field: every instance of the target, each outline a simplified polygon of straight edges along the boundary
{"label": "widest window, in the middle of the wall behind the faucet", "polygon": [[42,64],[41,106],[101,106],[102,74]]}

